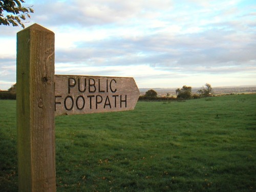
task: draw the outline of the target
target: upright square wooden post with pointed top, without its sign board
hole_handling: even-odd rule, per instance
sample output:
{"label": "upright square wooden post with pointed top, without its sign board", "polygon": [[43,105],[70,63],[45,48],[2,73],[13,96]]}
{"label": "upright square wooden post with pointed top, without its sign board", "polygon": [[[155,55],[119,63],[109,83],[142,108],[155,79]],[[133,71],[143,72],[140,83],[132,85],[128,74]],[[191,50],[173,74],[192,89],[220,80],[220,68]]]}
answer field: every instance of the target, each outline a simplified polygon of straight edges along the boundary
{"label": "upright square wooden post with pointed top, without its sign board", "polygon": [[54,33],[34,24],[17,33],[19,191],[56,191]]}

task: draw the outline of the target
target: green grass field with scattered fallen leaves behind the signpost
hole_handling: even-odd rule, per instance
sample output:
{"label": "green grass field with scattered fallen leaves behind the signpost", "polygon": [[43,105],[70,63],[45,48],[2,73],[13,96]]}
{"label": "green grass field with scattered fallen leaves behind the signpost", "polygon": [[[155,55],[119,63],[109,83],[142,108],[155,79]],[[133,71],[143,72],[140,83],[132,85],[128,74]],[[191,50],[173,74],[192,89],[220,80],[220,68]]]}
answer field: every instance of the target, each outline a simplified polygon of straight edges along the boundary
{"label": "green grass field with scattered fallen leaves behind the signpost", "polygon": [[[0,191],[17,191],[15,105],[0,100]],[[57,191],[256,191],[256,94],[55,124]]]}

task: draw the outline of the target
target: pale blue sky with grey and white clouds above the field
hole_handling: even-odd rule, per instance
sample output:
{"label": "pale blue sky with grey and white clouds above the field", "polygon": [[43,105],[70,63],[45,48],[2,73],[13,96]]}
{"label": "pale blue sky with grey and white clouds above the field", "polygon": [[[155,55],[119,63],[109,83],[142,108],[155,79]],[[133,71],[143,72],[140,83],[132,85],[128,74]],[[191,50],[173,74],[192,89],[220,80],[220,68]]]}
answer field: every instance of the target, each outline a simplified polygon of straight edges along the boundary
{"label": "pale blue sky with grey and white clouds above the field", "polygon": [[[139,88],[256,85],[255,0],[32,1],[55,33],[55,74],[134,77]],[[0,90],[16,82],[16,33],[0,26]]]}

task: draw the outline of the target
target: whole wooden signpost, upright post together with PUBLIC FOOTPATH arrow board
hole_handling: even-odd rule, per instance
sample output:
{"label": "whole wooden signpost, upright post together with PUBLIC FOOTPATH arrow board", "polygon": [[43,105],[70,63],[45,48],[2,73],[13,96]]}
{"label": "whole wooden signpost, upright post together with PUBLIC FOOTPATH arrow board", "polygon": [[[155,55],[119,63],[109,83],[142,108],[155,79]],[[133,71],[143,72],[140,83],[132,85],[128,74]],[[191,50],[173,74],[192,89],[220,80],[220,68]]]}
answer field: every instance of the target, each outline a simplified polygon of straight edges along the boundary
{"label": "whole wooden signpost, upright post together with PUBLIC FOOTPATH arrow board", "polygon": [[56,191],[55,116],[133,110],[138,98],[131,77],[54,75],[54,33],[18,32],[19,191]]}

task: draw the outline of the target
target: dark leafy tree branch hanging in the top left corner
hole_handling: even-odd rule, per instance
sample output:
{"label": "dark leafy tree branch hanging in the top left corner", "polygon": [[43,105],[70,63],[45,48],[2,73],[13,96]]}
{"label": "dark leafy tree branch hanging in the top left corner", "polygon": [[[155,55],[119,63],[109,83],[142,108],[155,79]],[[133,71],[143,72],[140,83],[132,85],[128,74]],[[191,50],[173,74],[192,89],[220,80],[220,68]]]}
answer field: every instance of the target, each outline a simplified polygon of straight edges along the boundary
{"label": "dark leafy tree branch hanging in the top left corner", "polygon": [[24,26],[24,20],[34,13],[31,7],[23,7],[24,0],[0,0],[0,25]]}

